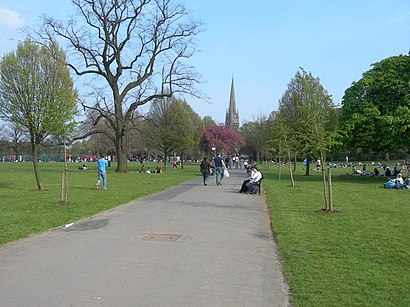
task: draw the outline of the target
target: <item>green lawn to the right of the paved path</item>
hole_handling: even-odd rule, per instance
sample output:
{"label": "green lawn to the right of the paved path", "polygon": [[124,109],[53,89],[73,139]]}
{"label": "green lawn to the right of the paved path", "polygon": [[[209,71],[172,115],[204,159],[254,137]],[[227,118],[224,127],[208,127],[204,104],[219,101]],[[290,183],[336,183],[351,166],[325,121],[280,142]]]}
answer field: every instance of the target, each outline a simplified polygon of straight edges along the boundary
{"label": "green lawn to the right of the paved path", "polygon": [[[410,306],[410,190],[333,171],[338,214],[323,215],[320,173],[263,169],[272,229],[294,306]],[[285,175],[286,174],[286,175]]]}

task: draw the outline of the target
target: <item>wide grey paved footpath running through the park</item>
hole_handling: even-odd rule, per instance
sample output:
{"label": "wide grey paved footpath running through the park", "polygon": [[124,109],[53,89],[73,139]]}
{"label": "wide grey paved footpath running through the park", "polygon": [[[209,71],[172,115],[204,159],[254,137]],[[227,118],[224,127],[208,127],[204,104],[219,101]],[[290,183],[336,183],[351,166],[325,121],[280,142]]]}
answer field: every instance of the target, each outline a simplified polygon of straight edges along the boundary
{"label": "wide grey paved footpath running through the park", "polygon": [[290,306],[244,177],[194,179],[0,248],[0,306]]}

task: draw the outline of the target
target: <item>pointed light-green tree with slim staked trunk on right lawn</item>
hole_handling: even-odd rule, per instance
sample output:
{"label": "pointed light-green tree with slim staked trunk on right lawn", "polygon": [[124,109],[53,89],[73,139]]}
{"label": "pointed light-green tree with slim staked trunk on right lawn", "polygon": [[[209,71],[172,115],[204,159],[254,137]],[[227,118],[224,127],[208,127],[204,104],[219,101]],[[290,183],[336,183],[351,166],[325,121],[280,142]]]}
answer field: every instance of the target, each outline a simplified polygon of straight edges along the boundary
{"label": "pointed light-green tree with slim staked trunk on right lawn", "polygon": [[[321,85],[319,78],[301,69],[288,84],[279,101],[279,118],[290,129],[286,132],[287,144],[295,144],[296,152],[321,160],[325,209],[333,210],[331,182],[326,173],[326,153],[336,143],[335,115],[332,98]],[[286,130],[287,130],[286,129]],[[294,140],[289,139],[293,134]]]}

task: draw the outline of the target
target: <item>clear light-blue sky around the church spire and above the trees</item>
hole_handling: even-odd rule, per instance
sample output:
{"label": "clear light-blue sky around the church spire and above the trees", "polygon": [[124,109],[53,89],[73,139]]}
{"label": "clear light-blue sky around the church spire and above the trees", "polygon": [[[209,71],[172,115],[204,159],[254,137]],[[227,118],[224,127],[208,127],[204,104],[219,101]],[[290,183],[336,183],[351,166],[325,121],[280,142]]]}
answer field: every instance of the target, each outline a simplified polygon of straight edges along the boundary
{"label": "clear light-blue sky around the church spire and above the trees", "polygon": [[[372,63],[410,51],[410,0],[179,0],[203,23],[190,64],[207,101],[185,97],[201,117],[225,121],[232,78],[240,123],[278,109],[299,67],[340,105]],[[65,20],[70,0],[0,0],[0,56],[39,16]]]}

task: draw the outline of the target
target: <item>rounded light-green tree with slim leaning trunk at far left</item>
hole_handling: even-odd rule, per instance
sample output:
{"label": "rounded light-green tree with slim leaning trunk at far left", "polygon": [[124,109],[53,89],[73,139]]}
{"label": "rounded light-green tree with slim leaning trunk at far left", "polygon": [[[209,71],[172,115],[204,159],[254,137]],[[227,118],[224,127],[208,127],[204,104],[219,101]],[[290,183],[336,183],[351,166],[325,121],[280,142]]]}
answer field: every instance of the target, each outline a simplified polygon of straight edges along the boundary
{"label": "rounded light-green tree with slim leaning trunk at far left", "polygon": [[49,135],[67,135],[77,113],[77,92],[65,63],[65,53],[56,43],[39,46],[30,39],[0,62],[0,112],[30,139],[39,190],[39,145]]}

